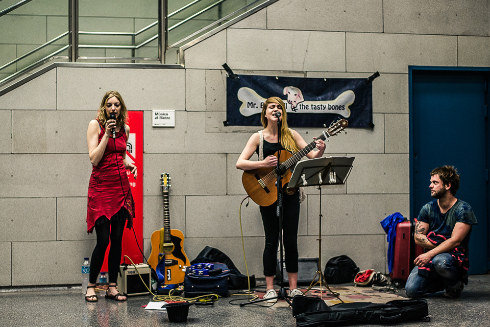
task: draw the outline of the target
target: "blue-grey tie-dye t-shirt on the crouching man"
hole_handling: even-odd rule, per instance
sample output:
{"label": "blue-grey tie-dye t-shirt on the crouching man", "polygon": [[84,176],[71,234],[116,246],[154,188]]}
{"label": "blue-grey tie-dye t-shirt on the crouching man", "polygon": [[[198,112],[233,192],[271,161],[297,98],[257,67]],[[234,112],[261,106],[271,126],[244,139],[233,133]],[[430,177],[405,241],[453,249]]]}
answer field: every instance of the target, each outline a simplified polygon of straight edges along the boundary
{"label": "blue-grey tie-dye t-shirt on the crouching man", "polygon": [[[439,205],[437,204],[437,199],[435,199],[422,207],[417,219],[418,221],[429,224],[428,232],[434,232],[447,238],[451,237],[456,223],[466,223],[470,225],[478,224],[473,209],[471,209],[469,204],[461,200],[456,201],[446,213],[441,213]],[[463,242],[461,242],[461,245],[466,251],[466,255],[468,254],[470,234],[471,228]]]}

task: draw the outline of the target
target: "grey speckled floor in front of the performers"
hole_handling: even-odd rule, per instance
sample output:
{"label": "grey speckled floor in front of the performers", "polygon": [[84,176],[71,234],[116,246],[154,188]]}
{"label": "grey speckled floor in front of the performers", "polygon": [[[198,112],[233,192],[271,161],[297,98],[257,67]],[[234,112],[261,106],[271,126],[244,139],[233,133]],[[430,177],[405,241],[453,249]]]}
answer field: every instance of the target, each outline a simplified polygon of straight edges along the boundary
{"label": "grey speckled floor in front of the performers", "polygon": [[[259,280],[260,283],[260,280]],[[244,299],[244,298],[243,298]],[[220,299],[213,307],[191,306],[186,323],[170,323],[166,312],[141,306],[151,296],[130,297],[127,302],[99,299],[86,303],[80,287],[0,288],[0,326],[146,327],[146,326],[295,326],[290,307],[239,306],[236,297]],[[427,298],[429,323],[405,323],[412,327],[488,327],[490,325],[490,275],[473,275],[459,299]],[[264,304],[264,303],[262,303]],[[266,305],[266,304],[264,304]],[[360,325],[368,327],[370,325]],[[379,325],[377,325],[379,326]]]}

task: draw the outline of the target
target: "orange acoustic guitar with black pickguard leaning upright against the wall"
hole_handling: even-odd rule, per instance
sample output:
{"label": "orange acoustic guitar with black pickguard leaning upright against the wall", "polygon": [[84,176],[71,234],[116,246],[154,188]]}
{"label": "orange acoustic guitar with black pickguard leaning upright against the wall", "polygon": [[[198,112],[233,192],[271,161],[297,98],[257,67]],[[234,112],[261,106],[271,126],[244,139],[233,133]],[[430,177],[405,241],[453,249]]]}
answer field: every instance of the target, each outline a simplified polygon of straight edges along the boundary
{"label": "orange acoustic guitar with black pickguard leaning upright against the wall", "polygon": [[180,284],[184,282],[185,268],[191,264],[184,252],[184,234],[170,228],[169,190],[171,185],[168,173],[161,175],[161,182],[163,228],[151,234],[151,253],[148,257],[148,264],[157,273],[159,284]]}

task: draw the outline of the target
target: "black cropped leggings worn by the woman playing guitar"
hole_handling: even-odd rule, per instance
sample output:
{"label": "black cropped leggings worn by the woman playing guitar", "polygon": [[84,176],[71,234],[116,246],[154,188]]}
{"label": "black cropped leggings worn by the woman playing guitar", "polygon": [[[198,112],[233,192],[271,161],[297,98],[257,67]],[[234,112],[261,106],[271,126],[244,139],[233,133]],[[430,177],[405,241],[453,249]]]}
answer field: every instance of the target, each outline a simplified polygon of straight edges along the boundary
{"label": "black cropped leggings worn by the woman playing guitar", "polygon": [[[277,202],[277,201],[276,201]],[[264,276],[275,276],[277,265],[277,246],[279,244],[279,218],[277,203],[268,207],[259,207],[266,234],[266,246],[262,255]],[[282,237],[284,245],[286,271],[298,272],[298,223],[299,223],[299,194],[284,194],[284,209],[282,220]]]}

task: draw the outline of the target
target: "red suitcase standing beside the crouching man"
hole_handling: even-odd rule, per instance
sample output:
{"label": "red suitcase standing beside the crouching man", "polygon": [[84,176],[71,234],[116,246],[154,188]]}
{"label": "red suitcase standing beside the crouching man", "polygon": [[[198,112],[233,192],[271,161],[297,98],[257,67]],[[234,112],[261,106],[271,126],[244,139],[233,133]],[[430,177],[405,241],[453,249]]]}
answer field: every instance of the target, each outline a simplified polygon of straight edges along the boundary
{"label": "red suitcase standing beside the crouching man", "polygon": [[422,247],[415,245],[414,233],[415,221],[406,220],[396,225],[392,280],[406,282],[415,266],[414,259],[424,252]]}

